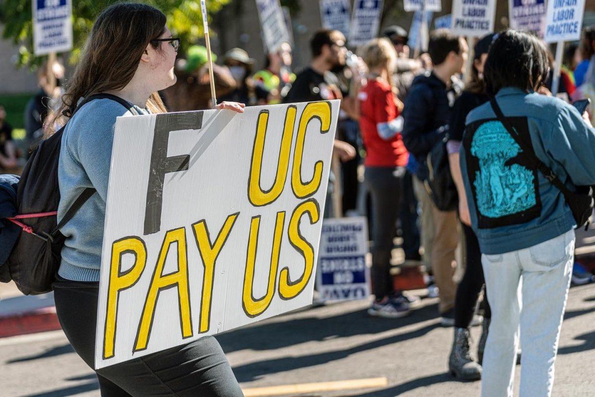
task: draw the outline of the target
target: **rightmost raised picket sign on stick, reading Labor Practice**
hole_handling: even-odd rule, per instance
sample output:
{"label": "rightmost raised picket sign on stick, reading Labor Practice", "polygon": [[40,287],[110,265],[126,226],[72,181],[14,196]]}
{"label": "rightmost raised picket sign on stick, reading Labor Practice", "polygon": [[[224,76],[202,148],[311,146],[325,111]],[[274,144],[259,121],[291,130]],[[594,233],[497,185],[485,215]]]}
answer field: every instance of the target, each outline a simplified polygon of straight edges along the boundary
{"label": "rightmost raised picket sign on stick, reading Labor Practice", "polygon": [[552,94],[558,94],[564,42],[581,38],[585,0],[549,0],[547,2],[546,43],[556,44],[556,64],[552,78]]}

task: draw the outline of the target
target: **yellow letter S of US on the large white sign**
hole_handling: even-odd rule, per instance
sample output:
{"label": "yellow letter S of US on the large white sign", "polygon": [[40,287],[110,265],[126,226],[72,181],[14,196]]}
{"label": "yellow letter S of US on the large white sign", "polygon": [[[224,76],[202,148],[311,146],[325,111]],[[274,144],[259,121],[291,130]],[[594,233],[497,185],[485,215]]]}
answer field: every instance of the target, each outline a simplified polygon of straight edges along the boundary
{"label": "yellow letter S of US on the large white sign", "polygon": [[295,298],[308,284],[312,276],[312,269],[314,269],[314,248],[306,241],[306,239],[299,232],[299,226],[302,221],[302,215],[308,213],[310,224],[315,224],[320,219],[320,207],[315,199],[309,199],[302,202],[293,211],[292,217],[289,220],[289,227],[287,235],[289,235],[289,242],[296,249],[304,259],[304,269],[299,279],[292,282],[289,279],[289,268],[281,269],[279,279],[279,295],[282,299]]}

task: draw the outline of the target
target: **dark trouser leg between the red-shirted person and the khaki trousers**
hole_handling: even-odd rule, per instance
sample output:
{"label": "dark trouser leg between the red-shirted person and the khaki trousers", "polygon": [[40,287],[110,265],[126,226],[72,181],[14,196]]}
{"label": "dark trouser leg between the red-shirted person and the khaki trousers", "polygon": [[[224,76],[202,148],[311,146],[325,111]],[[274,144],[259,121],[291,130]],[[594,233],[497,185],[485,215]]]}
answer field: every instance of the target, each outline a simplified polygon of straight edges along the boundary
{"label": "dark trouser leg between the red-shirted person and the khaki trousers", "polygon": [[406,171],[403,177],[403,193],[399,211],[405,260],[421,261],[417,217],[417,199],[413,190],[413,177],[409,171]]}

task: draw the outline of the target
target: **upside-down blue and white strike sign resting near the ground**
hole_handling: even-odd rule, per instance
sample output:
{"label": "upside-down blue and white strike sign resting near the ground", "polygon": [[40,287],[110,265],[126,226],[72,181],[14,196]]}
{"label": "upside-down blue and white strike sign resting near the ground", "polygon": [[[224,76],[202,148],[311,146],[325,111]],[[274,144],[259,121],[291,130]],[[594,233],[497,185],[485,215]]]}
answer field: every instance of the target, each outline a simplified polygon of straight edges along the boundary
{"label": "upside-down blue and white strike sign resting near the ground", "polygon": [[324,220],[317,273],[322,301],[362,299],[370,294],[367,253],[367,218]]}

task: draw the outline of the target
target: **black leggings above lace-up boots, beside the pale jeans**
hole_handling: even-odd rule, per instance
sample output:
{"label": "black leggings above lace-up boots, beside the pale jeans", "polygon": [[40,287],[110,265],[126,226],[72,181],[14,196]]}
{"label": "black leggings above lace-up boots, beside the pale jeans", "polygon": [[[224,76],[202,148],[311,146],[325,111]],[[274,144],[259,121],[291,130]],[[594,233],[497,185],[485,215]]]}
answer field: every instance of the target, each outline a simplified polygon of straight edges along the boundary
{"label": "black leggings above lace-up boots, beside the pale jeans", "polygon": [[[483,267],[481,267],[481,251],[477,236],[475,236],[471,227],[466,224],[462,224],[462,227],[465,234],[467,267],[463,279],[456,289],[455,327],[468,328],[471,320],[473,320],[475,308],[477,308],[477,299],[486,280],[484,279]],[[484,315],[486,318],[491,317],[487,296],[484,296]]]}

